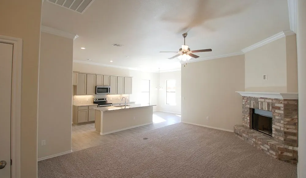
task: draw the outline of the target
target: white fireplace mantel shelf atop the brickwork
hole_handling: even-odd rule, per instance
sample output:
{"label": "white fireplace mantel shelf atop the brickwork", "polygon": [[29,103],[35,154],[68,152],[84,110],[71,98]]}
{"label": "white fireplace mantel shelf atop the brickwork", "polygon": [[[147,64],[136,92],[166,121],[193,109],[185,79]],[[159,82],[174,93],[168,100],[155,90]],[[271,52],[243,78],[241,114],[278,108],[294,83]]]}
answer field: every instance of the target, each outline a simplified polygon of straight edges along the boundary
{"label": "white fireplace mantel shelf atop the brickwork", "polygon": [[298,99],[298,93],[274,93],[274,92],[250,92],[236,91],[241,96],[256,97],[256,98],[275,98],[275,99]]}

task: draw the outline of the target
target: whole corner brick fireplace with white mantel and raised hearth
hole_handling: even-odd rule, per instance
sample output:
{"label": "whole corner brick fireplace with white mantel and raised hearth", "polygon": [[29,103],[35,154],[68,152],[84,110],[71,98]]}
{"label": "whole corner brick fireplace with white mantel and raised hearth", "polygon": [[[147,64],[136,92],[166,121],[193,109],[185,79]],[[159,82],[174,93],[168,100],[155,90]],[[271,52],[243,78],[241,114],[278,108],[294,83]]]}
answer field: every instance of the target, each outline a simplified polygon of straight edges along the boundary
{"label": "whole corner brick fireplace with white mantel and raised hearth", "polygon": [[[235,135],[275,159],[297,164],[298,94],[238,93],[242,95],[242,125],[234,126]],[[255,109],[272,112],[272,136],[253,129]]]}

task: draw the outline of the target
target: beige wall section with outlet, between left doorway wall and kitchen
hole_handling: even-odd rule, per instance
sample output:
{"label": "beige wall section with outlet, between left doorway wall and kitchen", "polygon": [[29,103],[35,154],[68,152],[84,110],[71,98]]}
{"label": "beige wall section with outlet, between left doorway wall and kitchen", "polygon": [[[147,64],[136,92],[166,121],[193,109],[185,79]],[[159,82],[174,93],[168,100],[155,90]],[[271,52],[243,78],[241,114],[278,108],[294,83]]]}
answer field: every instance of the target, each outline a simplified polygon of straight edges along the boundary
{"label": "beige wall section with outlet, between left doorway wall and kitchen", "polygon": [[40,44],[38,158],[43,158],[71,150],[73,39],[42,32]]}

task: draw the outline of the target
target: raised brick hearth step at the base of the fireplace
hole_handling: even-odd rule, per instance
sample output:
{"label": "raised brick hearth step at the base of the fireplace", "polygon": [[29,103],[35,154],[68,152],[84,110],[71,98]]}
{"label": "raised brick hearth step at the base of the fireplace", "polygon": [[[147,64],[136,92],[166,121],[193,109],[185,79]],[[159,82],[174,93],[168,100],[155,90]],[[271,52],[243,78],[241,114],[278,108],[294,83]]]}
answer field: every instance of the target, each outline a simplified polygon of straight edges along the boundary
{"label": "raised brick hearth step at the base of the fireplace", "polygon": [[297,147],[280,143],[274,137],[270,137],[253,129],[245,128],[243,125],[235,125],[234,133],[239,138],[256,146],[275,159],[297,164]]}

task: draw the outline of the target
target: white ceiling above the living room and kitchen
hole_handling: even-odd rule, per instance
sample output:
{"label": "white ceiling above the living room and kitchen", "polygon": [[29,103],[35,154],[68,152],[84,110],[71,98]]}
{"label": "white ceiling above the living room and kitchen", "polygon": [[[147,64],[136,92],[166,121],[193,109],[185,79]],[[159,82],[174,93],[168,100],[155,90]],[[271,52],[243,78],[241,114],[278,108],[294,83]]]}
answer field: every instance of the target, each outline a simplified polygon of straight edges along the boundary
{"label": "white ceiling above the living room and kitchen", "polygon": [[191,50],[213,50],[205,58],[290,29],[287,0],[95,0],[83,14],[45,1],[42,25],[79,35],[74,60],[148,71],[181,67],[159,51],[178,51],[187,30]]}

